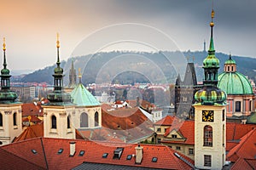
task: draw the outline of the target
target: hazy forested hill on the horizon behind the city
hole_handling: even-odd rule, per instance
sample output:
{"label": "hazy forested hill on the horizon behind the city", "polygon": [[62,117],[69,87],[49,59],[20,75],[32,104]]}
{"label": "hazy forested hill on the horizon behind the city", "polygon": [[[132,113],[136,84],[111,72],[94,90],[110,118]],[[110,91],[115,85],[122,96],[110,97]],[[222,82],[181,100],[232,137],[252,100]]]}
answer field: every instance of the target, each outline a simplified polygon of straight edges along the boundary
{"label": "hazy forested hill on the horizon behind the city", "polygon": [[[220,61],[218,73],[224,71],[224,61],[229,59],[229,54],[216,53]],[[106,52],[93,55],[85,55],[73,58],[74,68],[78,74],[79,68],[82,72],[82,82],[89,84],[93,82],[153,82],[173,83],[177,74],[183,76],[186,63],[195,63],[197,81],[201,82],[203,69],[202,61],[207,57],[207,52]],[[252,78],[256,82],[256,59],[232,56],[236,60],[237,71]],[[64,69],[64,84],[68,84],[69,69],[72,59],[61,61]],[[47,66],[42,70],[34,71],[26,75],[21,82],[48,82],[53,84],[53,73],[55,65]]]}

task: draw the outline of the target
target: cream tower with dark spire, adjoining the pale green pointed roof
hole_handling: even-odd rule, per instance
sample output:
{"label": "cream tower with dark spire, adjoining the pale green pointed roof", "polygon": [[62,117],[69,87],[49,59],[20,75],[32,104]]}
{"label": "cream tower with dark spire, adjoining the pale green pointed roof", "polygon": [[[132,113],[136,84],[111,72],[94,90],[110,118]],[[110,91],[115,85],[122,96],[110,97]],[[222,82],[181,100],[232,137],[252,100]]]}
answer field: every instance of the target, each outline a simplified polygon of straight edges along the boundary
{"label": "cream tower with dark spire, adjoining the pale green pointed roof", "polygon": [[57,67],[53,75],[55,81],[54,91],[48,94],[49,105],[44,105],[44,137],[75,139],[73,116],[74,104],[70,94],[63,91],[63,69],[59,58],[59,36],[57,35]]}

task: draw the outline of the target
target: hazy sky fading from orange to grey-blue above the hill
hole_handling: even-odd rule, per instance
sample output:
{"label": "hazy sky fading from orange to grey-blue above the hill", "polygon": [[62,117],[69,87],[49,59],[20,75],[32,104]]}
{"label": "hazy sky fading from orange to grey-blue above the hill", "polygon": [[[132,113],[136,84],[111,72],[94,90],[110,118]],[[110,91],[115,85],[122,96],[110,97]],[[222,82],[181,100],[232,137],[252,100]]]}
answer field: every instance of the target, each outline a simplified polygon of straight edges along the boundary
{"label": "hazy sky fading from orange to grey-blue above the hill", "polygon": [[[133,40],[144,33],[141,28],[137,31],[133,28],[127,33],[127,26],[126,29],[113,26],[122,23],[137,23],[160,31],[180,50],[202,50],[204,39],[207,44],[209,42],[211,8],[211,0],[0,0],[0,38],[6,37],[8,67],[12,70],[53,65],[56,61],[56,32],[60,33],[61,59],[76,54],[75,48],[84,39],[87,41],[84,44],[91,47],[95,44],[105,47],[113,42]],[[255,0],[214,1],[217,52],[256,57],[255,8]],[[109,31],[108,26],[113,29]],[[157,49],[172,50],[165,38],[149,40],[150,31],[146,32],[148,39],[143,40],[144,44],[150,46],[151,42],[157,42]],[[131,38],[120,37],[120,34]],[[144,49],[134,43],[125,48],[126,44],[105,49]],[[86,47],[84,53],[94,53],[102,47]],[[0,59],[2,65],[3,55]]]}

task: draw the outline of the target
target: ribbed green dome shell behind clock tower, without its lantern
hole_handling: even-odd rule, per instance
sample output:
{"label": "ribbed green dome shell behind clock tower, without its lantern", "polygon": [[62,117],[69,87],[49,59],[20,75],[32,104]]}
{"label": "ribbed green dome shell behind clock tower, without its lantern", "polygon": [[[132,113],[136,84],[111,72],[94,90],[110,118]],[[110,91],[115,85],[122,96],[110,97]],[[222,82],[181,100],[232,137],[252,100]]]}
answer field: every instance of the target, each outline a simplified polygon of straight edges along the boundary
{"label": "ribbed green dome shell behind clock tower, without its lantern", "polygon": [[240,72],[224,72],[218,76],[218,88],[227,94],[253,94],[253,88],[247,77]]}

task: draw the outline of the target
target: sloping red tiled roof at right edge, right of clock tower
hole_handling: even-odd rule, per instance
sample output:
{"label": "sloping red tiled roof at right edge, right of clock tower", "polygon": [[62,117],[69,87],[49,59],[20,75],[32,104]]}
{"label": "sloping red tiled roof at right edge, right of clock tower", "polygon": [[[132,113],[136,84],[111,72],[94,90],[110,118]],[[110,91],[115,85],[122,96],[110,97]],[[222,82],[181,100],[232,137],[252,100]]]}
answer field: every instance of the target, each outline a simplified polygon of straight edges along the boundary
{"label": "sloping red tiled roof at right edge, right of clock tower", "polygon": [[[239,144],[227,154],[227,159],[237,161],[238,158],[255,159],[256,156],[256,128],[241,138]],[[235,156],[236,155],[236,156]]]}

